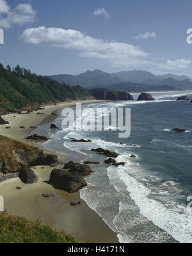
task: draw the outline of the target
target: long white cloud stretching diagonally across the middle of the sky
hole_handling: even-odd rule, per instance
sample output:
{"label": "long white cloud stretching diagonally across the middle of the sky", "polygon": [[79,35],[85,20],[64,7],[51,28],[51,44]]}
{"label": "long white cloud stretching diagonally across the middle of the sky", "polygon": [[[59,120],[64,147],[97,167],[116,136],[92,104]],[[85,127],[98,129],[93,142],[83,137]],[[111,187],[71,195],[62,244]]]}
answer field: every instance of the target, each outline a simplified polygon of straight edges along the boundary
{"label": "long white cloud stretching diagonally across the middle of the sky", "polygon": [[108,42],[85,35],[77,30],[63,28],[29,28],[20,39],[26,43],[51,45],[80,51],[81,57],[106,59],[113,66],[138,67],[148,64],[148,53],[124,42]]}

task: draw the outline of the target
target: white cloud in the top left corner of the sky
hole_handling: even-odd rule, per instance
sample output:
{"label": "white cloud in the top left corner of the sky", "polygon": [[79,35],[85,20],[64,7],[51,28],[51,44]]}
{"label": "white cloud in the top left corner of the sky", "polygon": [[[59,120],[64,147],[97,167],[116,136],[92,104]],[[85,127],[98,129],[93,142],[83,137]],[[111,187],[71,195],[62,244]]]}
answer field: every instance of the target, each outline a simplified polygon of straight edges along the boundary
{"label": "white cloud in the top left corner of the sky", "polygon": [[10,8],[5,0],[0,0],[0,28],[12,28],[36,21],[36,12],[30,4],[19,4]]}

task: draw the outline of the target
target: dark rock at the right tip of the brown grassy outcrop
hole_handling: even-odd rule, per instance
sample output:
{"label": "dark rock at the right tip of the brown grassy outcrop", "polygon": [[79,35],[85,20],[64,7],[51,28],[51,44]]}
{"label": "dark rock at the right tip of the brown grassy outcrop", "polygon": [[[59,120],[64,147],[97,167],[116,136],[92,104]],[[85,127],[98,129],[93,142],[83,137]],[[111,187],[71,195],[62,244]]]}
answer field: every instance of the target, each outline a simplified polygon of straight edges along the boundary
{"label": "dark rock at the right tip of the brown grassy outcrop", "polygon": [[[30,166],[34,166],[34,165],[57,165],[58,163],[58,157],[54,154],[45,154],[42,153],[39,155],[38,158],[36,158],[35,161],[33,161],[32,163],[30,163]],[[55,167],[55,166],[53,166]]]}

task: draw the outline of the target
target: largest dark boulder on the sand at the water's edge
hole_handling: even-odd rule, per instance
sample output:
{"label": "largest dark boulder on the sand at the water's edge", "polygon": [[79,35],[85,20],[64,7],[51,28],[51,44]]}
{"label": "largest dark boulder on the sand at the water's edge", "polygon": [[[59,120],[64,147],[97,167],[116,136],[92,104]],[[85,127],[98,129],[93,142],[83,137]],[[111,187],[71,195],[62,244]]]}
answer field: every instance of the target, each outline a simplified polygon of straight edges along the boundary
{"label": "largest dark boulder on the sand at the water's edge", "polygon": [[77,192],[87,185],[82,176],[63,169],[52,170],[49,182],[54,188],[65,190],[68,193]]}

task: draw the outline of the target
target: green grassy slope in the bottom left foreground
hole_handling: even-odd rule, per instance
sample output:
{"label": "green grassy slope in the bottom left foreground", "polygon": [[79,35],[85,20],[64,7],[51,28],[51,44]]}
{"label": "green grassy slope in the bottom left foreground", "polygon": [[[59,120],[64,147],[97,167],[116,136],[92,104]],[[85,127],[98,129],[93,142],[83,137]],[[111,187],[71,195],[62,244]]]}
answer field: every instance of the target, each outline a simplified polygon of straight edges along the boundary
{"label": "green grassy slope in the bottom left foreground", "polygon": [[74,243],[74,237],[25,217],[0,212],[0,243]]}

